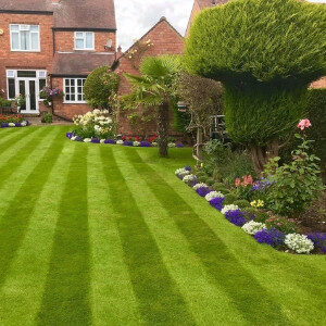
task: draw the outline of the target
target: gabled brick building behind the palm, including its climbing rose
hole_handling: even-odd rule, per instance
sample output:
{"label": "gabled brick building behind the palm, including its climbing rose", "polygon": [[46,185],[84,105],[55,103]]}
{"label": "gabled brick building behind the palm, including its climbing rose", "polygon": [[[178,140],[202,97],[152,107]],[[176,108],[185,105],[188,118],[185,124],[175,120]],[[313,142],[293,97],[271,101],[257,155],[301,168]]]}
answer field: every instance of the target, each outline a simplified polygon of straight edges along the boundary
{"label": "gabled brick building behind the palm, including its climbing rose", "polygon": [[[147,48],[147,45],[150,46]],[[162,17],[148,33],[146,33],[124,53],[122,53],[121,49],[118,49],[117,60],[113,64],[113,68],[116,72],[138,75],[141,59],[148,55],[181,54],[184,52],[184,37],[167,22],[165,17]],[[131,53],[136,54],[133,55]],[[130,92],[130,85],[122,75],[118,93],[126,95],[128,92]],[[141,115],[141,109],[139,109],[138,115]],[[128,122],[127,113],[125,111],[118,112],[118,127],[120,133],[124,135],[137,135],[138,133],[141,133],[139,124],[133,127],[133,125]],[[146,131],[148,135],[156,133],[154,118],[147,124]],[[177,133],[173,129],[171,129],[171,134],[177,135]]]}

